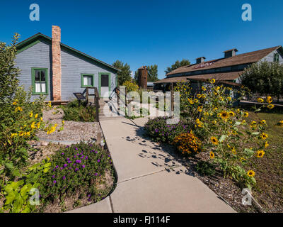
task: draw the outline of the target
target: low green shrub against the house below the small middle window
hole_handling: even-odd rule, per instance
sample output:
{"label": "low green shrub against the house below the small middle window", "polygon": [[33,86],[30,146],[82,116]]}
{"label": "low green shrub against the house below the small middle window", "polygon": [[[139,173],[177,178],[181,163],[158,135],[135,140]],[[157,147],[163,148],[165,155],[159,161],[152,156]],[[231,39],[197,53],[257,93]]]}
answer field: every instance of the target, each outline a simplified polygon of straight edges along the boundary
{"label": "low green shrub against the house below the small middle window", "polygon": [[86,106],[86,102],[71,101],[66,106],[61,106],[64,111],[63,119],[65,121],[96,121],[96,108],[94,106]]}

